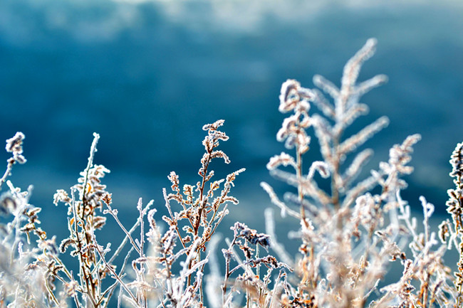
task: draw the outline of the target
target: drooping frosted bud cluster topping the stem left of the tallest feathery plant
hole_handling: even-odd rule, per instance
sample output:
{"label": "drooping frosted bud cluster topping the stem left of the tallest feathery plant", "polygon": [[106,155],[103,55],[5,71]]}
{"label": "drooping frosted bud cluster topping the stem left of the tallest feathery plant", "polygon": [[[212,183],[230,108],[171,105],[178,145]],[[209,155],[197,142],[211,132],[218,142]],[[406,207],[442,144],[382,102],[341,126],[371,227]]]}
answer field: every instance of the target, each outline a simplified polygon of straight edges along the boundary
{"label": "drooping frosted bud cluster topping the stem left of the tallest feathery plant", "polygon": [[315,95],[309,89],[301,87],[296,80],[288,79],[281,85],[280,112],[293,111],[294,114],[283,120],[281,129],[276,134],[279,142],[285,142],[287,149],[296,147],[298,151],[304,153],[308,150],[310,137],[306,134],[306,128],[311,126],[311,118],[308,110],[311,105],[308,103]]}

